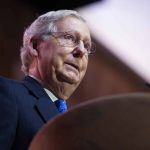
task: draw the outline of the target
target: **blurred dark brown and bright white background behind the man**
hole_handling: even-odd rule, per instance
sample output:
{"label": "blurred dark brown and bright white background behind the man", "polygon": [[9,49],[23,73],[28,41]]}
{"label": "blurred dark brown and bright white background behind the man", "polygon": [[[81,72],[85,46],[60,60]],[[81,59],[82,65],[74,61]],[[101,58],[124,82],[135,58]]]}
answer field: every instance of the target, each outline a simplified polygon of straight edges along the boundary
{"label": "blurred dark brown and bright white background behind the man", "polygon": [[97,51],[69,105],[101,96],[149,92],[149,0],[5,0],[0,5],[0,75],[21,80],[25,28],[50,10],[75,9],[87,20]]}

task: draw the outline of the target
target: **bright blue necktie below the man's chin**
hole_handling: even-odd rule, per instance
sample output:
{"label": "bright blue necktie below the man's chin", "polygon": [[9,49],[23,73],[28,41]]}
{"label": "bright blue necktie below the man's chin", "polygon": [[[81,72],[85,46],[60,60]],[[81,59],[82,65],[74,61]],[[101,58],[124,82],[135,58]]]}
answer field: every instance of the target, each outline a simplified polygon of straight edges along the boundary
{"label": "bright blue necktie below the man's chin", "polygon": [[66,112],[67,111],[67,104],[66,101],[63,99],[58,99],[55,101],[55,105],[58,108],[59,112]]}

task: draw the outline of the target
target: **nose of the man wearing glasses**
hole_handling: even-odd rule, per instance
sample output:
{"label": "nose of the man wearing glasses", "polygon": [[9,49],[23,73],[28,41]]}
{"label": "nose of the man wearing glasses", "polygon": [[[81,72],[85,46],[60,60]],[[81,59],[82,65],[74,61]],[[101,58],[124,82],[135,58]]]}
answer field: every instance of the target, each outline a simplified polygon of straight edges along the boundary
{"label": "nose of the man wearing glasses", "polygon": [[87,52],[84,48],[83,41],[80,41],[79,44],[73,50],[74,57],[83,57]]}

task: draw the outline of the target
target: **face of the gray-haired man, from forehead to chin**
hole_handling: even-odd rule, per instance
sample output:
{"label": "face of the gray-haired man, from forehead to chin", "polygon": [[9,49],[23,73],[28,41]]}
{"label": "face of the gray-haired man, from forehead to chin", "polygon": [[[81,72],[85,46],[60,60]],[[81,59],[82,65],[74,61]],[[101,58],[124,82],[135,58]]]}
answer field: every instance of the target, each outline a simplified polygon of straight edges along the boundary
{"label": "face of the gray-haired man, from forehead to chin", "polygon": [[[67,32],[65,36],[62,32]],[[60,40],[72,40],[73,34],[79,43],[77,46],[62,45]],[[63,39],[61,39],[63,38]],[[74,17],[66,17],[57,22],[57,33],[42,41],[38,46],[39,79],[51,89],[61,82],[76,89],[83,79],[88,65],[88,53],[84,44],[90,44],[87,25]]]}

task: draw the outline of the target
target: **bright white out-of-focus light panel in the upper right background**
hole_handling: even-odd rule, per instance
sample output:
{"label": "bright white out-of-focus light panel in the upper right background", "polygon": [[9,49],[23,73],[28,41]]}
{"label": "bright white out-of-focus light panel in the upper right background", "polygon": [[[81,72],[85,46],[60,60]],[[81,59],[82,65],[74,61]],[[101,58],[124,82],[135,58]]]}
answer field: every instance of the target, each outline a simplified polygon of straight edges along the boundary
{"label": "bright white out-of-focus light panel in the upper right background", "polygon": [[78,9],[93,36],[148,82],[149,6],[149,0],[106,0]]}

